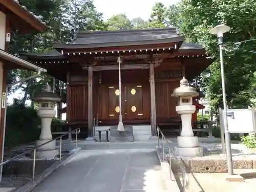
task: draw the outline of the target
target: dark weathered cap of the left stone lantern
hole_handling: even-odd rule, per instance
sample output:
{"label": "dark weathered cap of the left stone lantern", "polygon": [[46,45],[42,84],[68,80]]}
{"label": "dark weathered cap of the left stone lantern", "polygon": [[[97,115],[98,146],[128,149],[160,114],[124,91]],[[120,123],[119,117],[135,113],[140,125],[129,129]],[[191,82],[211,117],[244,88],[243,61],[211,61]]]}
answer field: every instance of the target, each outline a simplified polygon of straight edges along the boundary
{"label": "dark weathered cap of the left stone lantern", "polygon": [[58,97],[58,95],[54,92],[52,92],[51,87],[47,83],[43,88],[42,92],[36,95],[33,99],[34,101],[55,101],[58,102],[61,99]]}

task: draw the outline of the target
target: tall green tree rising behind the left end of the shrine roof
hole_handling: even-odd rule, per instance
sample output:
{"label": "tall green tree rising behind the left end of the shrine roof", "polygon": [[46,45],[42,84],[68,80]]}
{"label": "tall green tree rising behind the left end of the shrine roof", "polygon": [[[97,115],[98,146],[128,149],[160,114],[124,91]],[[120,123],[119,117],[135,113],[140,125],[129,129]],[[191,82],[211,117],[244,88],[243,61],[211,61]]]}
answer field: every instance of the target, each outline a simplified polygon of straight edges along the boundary
{"label": "tall green tree rising behind the left end of the shrine roof", "polygon": [[[102,13],[96,11],[91,0],[24,0],[22,3],[29,11],[40,16],[47,23],[49,29],[36,36],[19,34],[16,29],[13,29],[10,46],[13,54],[41,53],[52,50],[53,42],[72,42],[77,30],[106,29]],[[8,83],[24,79],[30,75],[32,73],[27,70],[12,70],[8,73]],[[42,74],[37,79],[18,84],[10,90],[10,93],[21,89],[24,92],[22,103],[25,105],[26,100],[31,99],[41,91],[46,82],[49,82],[51,86],[55,82],[57,93],[65,92],[63,83],[59,83],[58,80],[48,74]]]}

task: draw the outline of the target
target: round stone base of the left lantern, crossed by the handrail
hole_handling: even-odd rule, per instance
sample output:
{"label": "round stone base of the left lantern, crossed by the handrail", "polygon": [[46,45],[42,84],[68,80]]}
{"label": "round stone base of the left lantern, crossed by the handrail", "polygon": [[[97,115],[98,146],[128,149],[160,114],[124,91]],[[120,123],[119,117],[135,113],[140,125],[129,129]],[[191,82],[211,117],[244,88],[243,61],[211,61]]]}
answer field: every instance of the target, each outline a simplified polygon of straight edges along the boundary
{"label": "round stone base of the left lantern, crossed by the handrail", "polygon": [[[48,141],[50,141],[50,140],[36,140],[35,146],[39,146]],[[38,147],[36,150],[37,158],[53,159],[57,155],[59,155],[59,148],[56,147],[56,140],[54,140],[46,145],[42,145],[41,147]]]}

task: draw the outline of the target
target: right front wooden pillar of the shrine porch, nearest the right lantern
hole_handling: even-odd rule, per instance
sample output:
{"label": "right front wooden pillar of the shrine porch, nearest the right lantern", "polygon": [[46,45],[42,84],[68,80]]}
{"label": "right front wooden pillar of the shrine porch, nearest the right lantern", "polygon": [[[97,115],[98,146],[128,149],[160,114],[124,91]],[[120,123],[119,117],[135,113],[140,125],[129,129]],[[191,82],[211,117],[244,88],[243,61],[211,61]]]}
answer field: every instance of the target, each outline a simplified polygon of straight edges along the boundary
{"label": "right front wooden pillar of the shrine porch, nearest the right lantern", "polygon": [[150,65],[150,98],[151,98],[151,133],[157,135],[157,117],[156,117],[156,95],[155,95],[155,64]]}

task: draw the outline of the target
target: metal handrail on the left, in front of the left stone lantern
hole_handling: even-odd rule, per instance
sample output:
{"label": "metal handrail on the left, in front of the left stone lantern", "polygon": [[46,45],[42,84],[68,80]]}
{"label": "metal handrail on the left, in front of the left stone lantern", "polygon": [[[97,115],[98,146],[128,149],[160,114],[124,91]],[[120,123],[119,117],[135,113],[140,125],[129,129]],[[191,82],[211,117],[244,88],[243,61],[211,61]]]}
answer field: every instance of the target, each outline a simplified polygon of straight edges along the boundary
{"label": "metal handrail on the left, in front of the left stone lantern", "polygon": [[47,142],[45,142],[45,143],[43,143],[43,144],[41,144],[41,145],[38,145],[38,146],[36,146],[36,147],[33,147],[32,149],[30,149],[30,150],[28,150],[28,151],[26,151],[26,152],[23,152],[22,154],[16,155],[15,157],[6,160],[6,161],[4,161],[3,163],[0,163],[0,166],[3,166],[3,165],[5,165],[5,164],[7,164],[7,163],[9,163],[9,162],[11,162],[11,161],[17,159],[18,157],[24,156],[24,155],[26,155],[26,154],[31,153],[32,151],[34,151],[34,153],[33,153],[33,173],[32,173],[32,181],[34,182],[34,179],[35,179],[35,154],[36,154],[37,148],[39,148],[39,147],[41,147],[41,146],[44,146],[44,145],[46,145],[46,144],[48,144],[48,143],[50,143],[50,142],[52,142],[52,141],[55,141],[55,140],[59,139],[59,161],[61,161],[62,137],[63,137],[63,136],[66,136],[66,135],[68,135],[69,133],[72,133],[72,132],[74,132],[74,131],[76,132],[76,148],[77,148],[77,134],[80,132],[80,128],[77,128],[77,129],[75,129],[75,130],[72,130],[72,131],[70,131],[70,132],[67,132],[66,134],[60,135],[59,137],[57,137],[57,138],[55,138],[55,139],[52,139],[52,140],[47,141]]}

